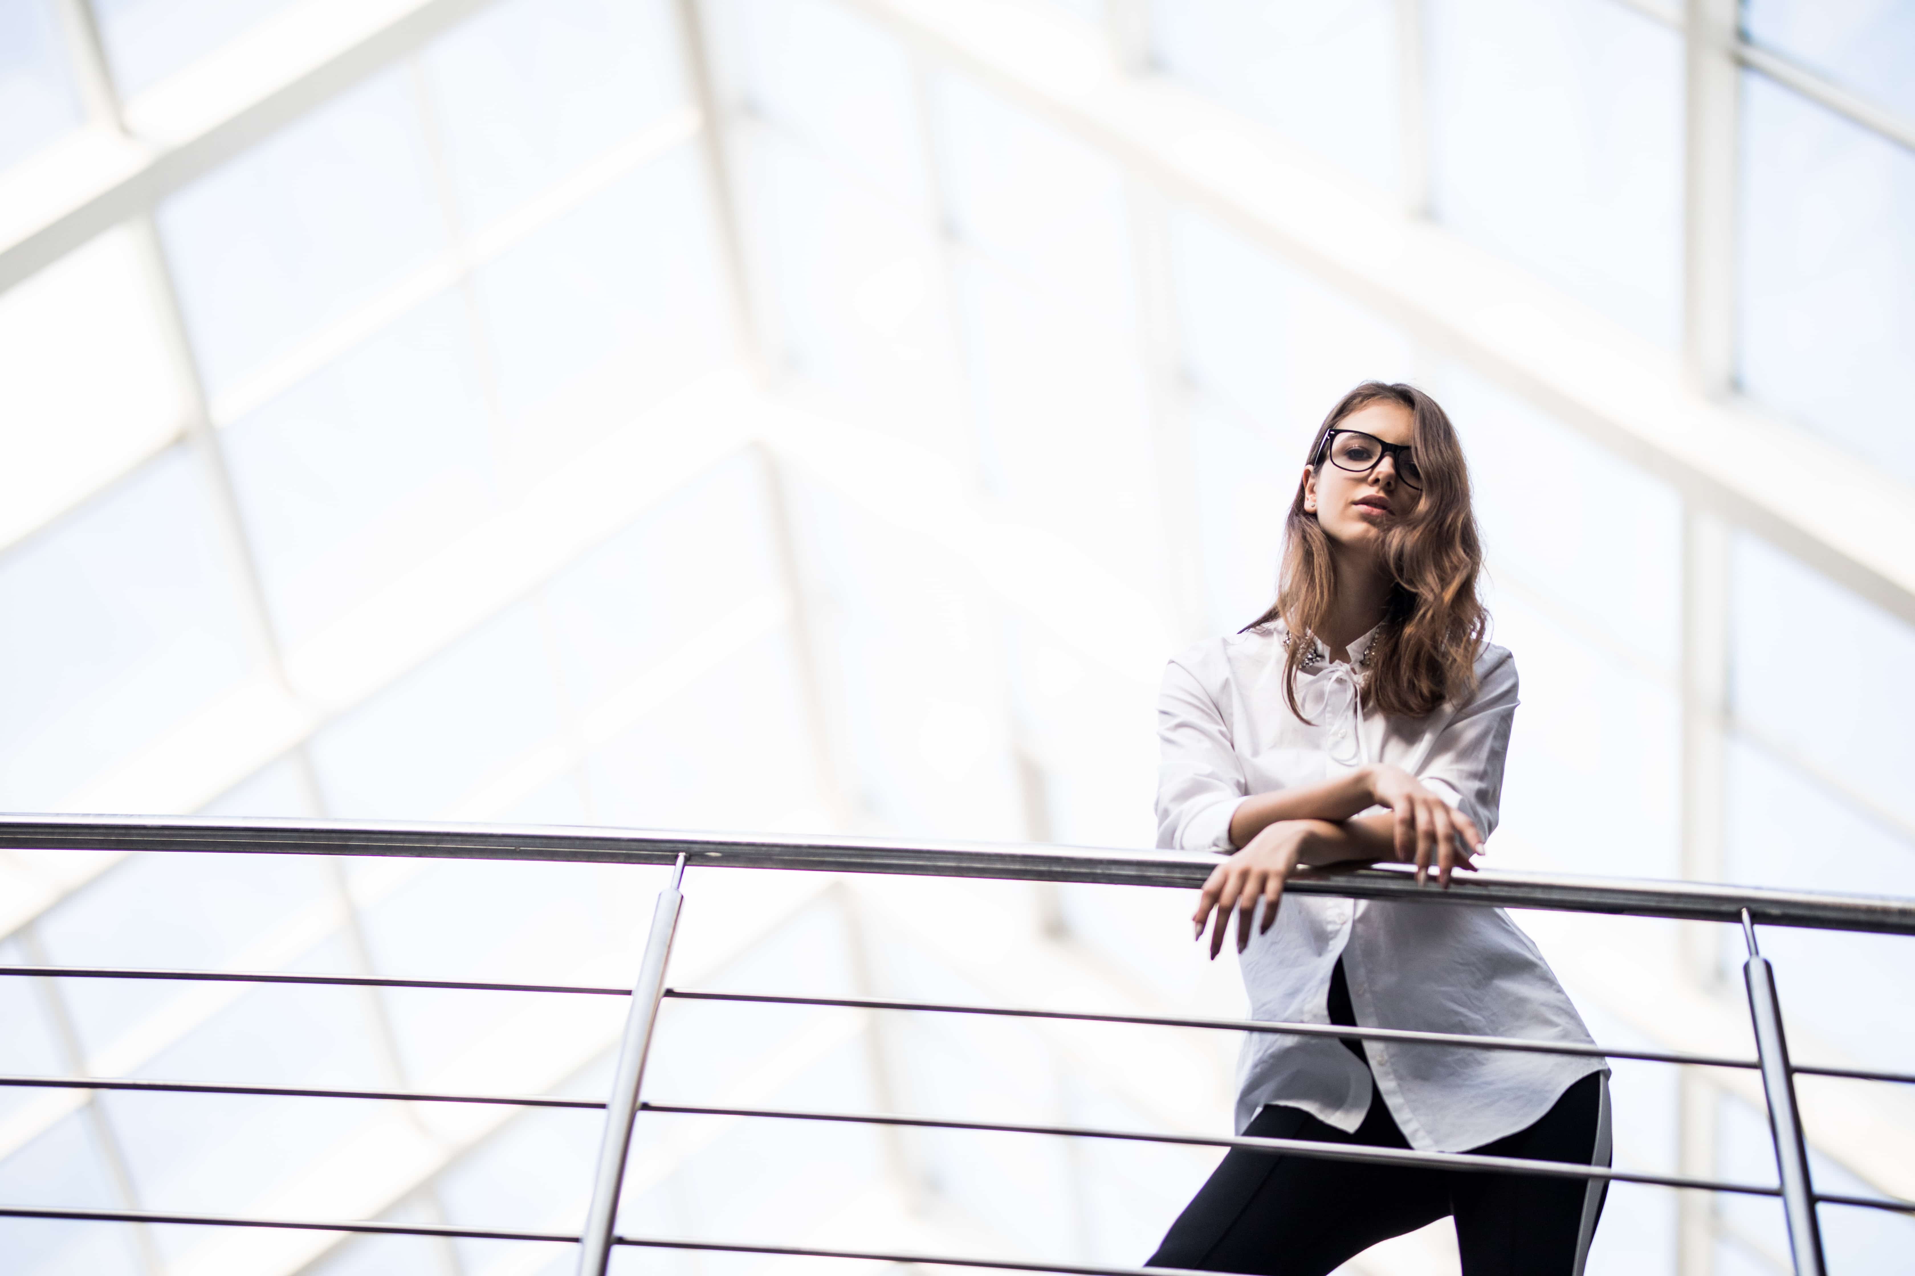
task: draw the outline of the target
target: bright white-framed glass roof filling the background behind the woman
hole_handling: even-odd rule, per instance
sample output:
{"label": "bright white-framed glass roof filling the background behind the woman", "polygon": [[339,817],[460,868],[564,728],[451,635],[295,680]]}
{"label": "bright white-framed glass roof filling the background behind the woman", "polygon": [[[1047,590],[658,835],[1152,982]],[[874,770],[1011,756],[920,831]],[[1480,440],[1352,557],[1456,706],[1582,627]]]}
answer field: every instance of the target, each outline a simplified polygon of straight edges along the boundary
{"label": "bright white-framed glass roof filling the background behind the woman", "polygon": [[[1854,526],[1915,517],[1915,25],[1741,21],[1710,98],[1651,0],[0,0],[0,805],[1149,846],[1162,660],[1264,608],[1306,434],[1383,377],[1463,430],[1524,675],[1492,863],[1909,893],[1915,572]],[[1203,187],[1218,157],[1291,220]],[[1375,243],[1402,291],[1340,264]],[[1419,308],[1425,279],[1467,287]],[[1547,358],[1469,335],[1498,314]],[[1702,402],[1710,323],[1737,446],[1586,407]],[[1764,465],[1873,486],[1804,478],[1781,518],[1739,495]],[[13,853],[0,962],[619,983],[659,884]],[[697,870],[674,981],[1237,1014],[1185,903]],[[1522,920],[1599,1041],[1746,1050],[1708,928]],[[1915,1067],[1882,1012],[1911,943],[1766,937],[1796,1056]],[[0,981],[0,1073],[559,1094],[605,1087],[619,1033],[513,995],[84,979]],[[647,1089],[1222,1131],[1231,1045],[674,1004]],[[1773,1173],[1758,1090],[1618,1064],[1616,1096],[1620,1165]],[[1915,1102],[1804,1106],[1817,1184],[1915,1196]],[[776,1125],[642,1119],[620,1226],[1132,1265],[1214,1159]],[[0,1089],[0,1199],[576,1226],[596,1131]],[[1823,1228],[1840,1272],[1915,1242]],[[0,1253],[573,1263],[34,1221]],[[1785,1253],[1769,1201],[1616,1186],[1589,1270]],[[1453,1265],[1432,1228],[1350,1270]]]}

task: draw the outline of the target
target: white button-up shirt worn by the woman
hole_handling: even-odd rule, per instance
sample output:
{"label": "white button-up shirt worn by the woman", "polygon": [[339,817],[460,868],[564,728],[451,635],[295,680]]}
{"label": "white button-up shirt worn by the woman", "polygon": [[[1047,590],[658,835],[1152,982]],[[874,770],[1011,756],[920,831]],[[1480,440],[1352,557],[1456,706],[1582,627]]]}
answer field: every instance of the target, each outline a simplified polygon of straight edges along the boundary
{"label": "white button-up shirt worn by the woman", "polygon": [[[1312,721],[1283,698],[1281,626],[1176,656],[1157,710],[1157,846],[1228,855],[1229,817],[1247,796],[1318,784],[1365,761],[1415,775],[1488,838],[1517,712],[1515,660],[1486,643],[1467,704],[1421,719],[1386,717],[1360,708],[1356,694],[1373,633],[1350,645],[1358,670],[1318,649],[1296,675]],[[1339,957],[1365,1027],[1589,1041],[1530,937],[1501,909],[1480,905],[1285,895],[1275,926],[1254,935],[1241,958],[1250,1014],[1327,1023]],[[1331,1037],[1247,1033],[1237,1129],[1264,1104],[1289,1104],[1354,1131],[1375,1089],[1411,1148],[1463,1152],[1524,1129],[1570,1083],[1607,1071],[1591,1056],[1386,1041],[1365,1041],[1363,1050],[1369,1069]]]}

